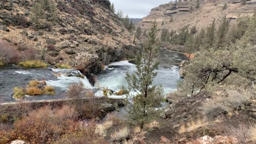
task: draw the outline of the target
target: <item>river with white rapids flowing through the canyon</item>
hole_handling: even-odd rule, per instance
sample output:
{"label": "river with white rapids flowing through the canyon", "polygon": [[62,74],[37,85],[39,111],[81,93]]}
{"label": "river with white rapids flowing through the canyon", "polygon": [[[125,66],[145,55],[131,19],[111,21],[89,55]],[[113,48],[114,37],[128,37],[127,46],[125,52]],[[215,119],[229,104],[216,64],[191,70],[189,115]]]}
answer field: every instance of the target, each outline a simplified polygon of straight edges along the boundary
{"label": "river with white rapids flowing through the canyon", "polygon": [[[154,80],[154,85],[162,85],[165,94],[177,89],[177,81],[179,80],[179,62],[184,59],[187,59],[185,55],[179,53],[167,50],[159,51],[158,60],[160,61],[160,65],[159,69],[157,70],[158,74]],[[103,70],[101,74],[96,76],[97,83],[93,87],[86,78],[68,77],[66,75],[56,77],[56,75],[59,73],[76,75],[79,73],[79,71],[76,70],[51,68],[28,69],[9,65],[0,68],[0,102],[16,101],[12,98],[13,87],[25,87],[31,79],[45,79],[47,85],[52,85],[55,87],[57,94],[53,96],[41,95],[35,97],[26,97],[24,100],[66,98],[65,92],[68,90],[69,85],[80,81],[84,83],[86,89],[105,87],[118,91],[122,86],[127,87],[127,83],[125,81],[126,73],[133,73],[135,70],[135,65],[129,61],[113,62],[106,66],[105,70]],[[101,92],[98,93],[98,95],[101,94]]]}

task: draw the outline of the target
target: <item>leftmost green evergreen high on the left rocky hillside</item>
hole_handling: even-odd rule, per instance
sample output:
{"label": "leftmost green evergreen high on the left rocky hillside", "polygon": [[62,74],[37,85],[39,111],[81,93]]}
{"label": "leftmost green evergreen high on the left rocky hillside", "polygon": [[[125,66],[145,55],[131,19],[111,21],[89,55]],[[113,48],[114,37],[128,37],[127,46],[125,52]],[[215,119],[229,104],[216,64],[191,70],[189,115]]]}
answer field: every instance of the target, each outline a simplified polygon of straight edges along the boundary
{"label": "leftmost green evergreen high on the left rocky hillside", "polygon": [[41,4],[36,2],[30,10],[29,17],[32,22],[37,25],[44,18],[44,14],[44,9],[42,8]]}

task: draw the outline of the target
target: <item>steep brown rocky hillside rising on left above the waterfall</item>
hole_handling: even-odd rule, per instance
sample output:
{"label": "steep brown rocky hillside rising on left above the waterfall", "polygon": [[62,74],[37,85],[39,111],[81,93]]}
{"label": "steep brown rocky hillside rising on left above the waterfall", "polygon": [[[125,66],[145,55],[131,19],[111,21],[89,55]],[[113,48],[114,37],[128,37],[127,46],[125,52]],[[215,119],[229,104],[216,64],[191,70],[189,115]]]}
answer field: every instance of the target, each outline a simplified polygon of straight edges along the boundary
{"label": "steep brown rocky hillside rising on left above the waterfall", "polygon": [[20,52],[33,47],[40,54],[50,55],[52,63],[63,61],[87,74],[134,55],[134,38],[110,11],[108,0],[42,2],[48,7],[41,6],[43,12],[36,23],[31,15],[41,10],[31,12],[35,1],[0,1],[0,39],[17,46]]}

